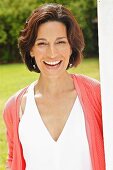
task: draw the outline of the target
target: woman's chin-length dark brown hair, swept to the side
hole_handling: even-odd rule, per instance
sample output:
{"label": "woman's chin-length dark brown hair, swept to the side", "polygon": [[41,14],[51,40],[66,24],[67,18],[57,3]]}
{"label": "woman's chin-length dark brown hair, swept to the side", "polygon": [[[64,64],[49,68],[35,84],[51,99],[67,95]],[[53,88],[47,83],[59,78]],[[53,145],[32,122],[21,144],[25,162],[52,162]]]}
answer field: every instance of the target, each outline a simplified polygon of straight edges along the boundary
{"label": "woman's chin-length dark brown hair, swept to the side", "polygon": [[20,32],[18,46],[23,61],[26,63],[28,69],[40,73],[35,59],[30,56],[30,50],[37,38],[38,27],[40,24],[47,21],[58,21],[66,26],[67,38],[72,48],[72,54],[67,69],[69,67],[77,66],[81,61],[83,56],[82,51],[85,46],[82,30],[71,11],[61,4],[50,3],[35,9],[27,19],[24,29]]}

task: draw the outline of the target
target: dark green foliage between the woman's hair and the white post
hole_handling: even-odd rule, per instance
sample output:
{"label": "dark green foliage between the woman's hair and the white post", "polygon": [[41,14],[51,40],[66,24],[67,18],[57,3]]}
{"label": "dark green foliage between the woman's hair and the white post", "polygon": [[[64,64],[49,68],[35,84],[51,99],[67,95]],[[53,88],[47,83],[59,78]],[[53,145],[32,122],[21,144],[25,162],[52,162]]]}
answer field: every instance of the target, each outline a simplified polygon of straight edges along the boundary
{"label": "dark green foliage between the woman's hair and the white post", "polygon": [[97,18],[96,0],[79,0],[70,3],[70,9],[74,13],[85,37],[85,53],[87,55],[98,55],[98,28],[94,23]]}

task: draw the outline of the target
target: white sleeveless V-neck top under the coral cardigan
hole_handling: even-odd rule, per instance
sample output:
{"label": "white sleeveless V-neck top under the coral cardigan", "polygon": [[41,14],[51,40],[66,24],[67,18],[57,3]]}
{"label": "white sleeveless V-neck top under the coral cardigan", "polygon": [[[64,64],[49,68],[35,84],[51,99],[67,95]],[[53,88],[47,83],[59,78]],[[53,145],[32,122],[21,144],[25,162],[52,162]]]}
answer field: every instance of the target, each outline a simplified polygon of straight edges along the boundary
{"label": "white sleeveless V-neck top under the coral cardigan", "polygon": [[26,170],[92,170],[84,113],[78,97],[58,140],[54,141],[39,114],[32,83],[18,130]]}

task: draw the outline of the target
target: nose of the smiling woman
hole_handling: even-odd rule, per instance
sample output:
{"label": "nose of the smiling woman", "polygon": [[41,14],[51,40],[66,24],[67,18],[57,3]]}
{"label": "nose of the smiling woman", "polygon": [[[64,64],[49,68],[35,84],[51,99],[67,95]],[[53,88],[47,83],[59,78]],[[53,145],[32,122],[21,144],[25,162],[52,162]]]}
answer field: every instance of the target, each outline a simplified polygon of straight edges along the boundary
{"label": "nose of the smiling woman", "polygon": [[49,58],[57,57],[57,49],[55,48],[54,44],[48,46],[47,55]]}

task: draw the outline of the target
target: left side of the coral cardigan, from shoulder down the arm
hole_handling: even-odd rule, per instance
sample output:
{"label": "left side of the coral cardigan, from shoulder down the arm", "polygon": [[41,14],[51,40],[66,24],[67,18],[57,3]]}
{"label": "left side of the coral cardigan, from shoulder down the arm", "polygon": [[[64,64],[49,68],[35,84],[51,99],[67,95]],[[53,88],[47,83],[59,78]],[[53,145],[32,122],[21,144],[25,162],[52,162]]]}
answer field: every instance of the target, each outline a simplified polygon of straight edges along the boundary
{"label": "left side of the coral cardigan, from shoulder down the arm", "polygon": [[[28,87],[28,86],[27,86]],[[19,116],[17,116],[17,107],[21,100],[21,97],[26,92],[27,87],[19,90],[13,96],[11,96],[5,104],[3,110],[3,119],[6,126],[6,137],[7,137],[7,144],[8,144],[8,157],[6,161],[6,169],[11,170],[12,166],[14,166],[14,161],[17,159],[15,158],[15,144],[18,145],[15,141],[15,136],[17,137],[16,133],[16,126],[17,121],[19,121]],[[18,104],[17,104],[18,103]],[[15,162],[15,164],[17,164]]]}

